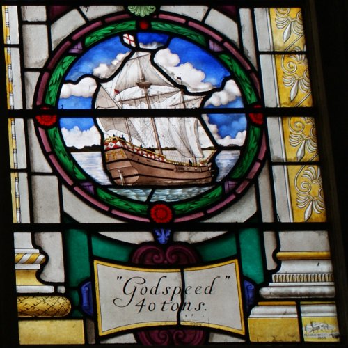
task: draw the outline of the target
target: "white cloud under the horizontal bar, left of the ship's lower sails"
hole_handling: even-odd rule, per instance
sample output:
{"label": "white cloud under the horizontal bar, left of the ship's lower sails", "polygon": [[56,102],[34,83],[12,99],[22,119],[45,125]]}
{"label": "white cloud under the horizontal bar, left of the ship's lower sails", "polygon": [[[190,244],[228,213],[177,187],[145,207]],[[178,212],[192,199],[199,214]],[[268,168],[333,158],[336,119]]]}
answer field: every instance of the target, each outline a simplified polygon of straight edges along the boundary
{"label": "white cloud under the horizontal bar, left of the ship's lower sails", "polygon": [[100,145],[100,132],[95,126],[84,131],[81,131],[77,126],[72,129],[62,128],[62,134],[67,146],[81,149],[84,146]]}

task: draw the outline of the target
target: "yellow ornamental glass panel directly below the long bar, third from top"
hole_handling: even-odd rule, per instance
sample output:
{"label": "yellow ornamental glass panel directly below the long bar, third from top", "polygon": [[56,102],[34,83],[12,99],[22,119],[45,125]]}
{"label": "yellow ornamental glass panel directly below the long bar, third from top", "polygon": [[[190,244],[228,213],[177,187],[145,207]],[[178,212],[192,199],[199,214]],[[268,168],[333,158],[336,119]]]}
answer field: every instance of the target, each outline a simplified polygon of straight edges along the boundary
{"label": "yellow ornamental glass panel directly below the long bar, third from top", "polygon": [[283,118],[283,134],[287,161],[317,161],[317,132],[311,117]]}

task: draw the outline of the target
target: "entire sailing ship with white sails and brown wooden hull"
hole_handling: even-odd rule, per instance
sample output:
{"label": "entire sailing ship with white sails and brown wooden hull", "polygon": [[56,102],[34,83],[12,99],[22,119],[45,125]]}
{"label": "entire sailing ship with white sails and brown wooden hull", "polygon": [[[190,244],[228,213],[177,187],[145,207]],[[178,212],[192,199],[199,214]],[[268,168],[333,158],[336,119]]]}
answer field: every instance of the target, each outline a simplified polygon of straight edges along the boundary
{"label": "entire sailing ship with white sails and brown wooden hull", "polygon": [[[186,95],[151,63],[151,53],[125,58],[97,93],[97,109],[196,108],[205,95]],[[195,117],[104,117],[106,169],[118,185],[185,185],[212,182],[211,159],[200,143],[203,127]],[[199,132],[200,131],[200,132]],[[209,141],[205,134],[205,143]],[[210,143],[212,145],[212,143]],[[207,151],[205,151],[207,152]]]}

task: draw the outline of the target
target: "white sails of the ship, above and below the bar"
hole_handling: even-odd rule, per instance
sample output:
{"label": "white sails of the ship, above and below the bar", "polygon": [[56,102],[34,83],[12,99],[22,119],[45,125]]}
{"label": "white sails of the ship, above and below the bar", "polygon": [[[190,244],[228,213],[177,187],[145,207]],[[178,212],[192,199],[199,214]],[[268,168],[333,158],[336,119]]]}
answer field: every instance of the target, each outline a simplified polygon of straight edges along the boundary
{"label": "white sails of the ship, above and below the bar", "polygon": [[[126,59],[109,81],[102,82],[97,109],[191,109],[202,103],[205,95],[185,95],[183,88],[161,74],[152,65],[150,52],[134,52]],[[175,148],[181,157],[193,159],[193,164],[204,157],[199,122],[194,117],[105,117],[99,118],[98,124],[106,137],[125,134],[130,143],[136,139],[136,145],[153,148],[159,154],[162,148]]]}

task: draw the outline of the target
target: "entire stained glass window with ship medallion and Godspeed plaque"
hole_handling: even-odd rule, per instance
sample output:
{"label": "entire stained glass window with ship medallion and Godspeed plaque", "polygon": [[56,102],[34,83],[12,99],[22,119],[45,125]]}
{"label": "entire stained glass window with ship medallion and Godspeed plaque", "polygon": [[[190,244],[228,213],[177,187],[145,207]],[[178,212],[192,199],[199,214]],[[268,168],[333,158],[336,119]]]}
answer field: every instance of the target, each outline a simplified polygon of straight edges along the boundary
{"label": "entire stained glass window with ship medallion and Godspeed plaque", "polygon": [[340,342],[280,6],[2,6],[20,345]]}

